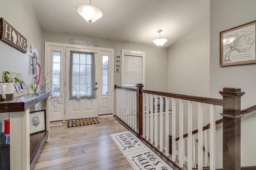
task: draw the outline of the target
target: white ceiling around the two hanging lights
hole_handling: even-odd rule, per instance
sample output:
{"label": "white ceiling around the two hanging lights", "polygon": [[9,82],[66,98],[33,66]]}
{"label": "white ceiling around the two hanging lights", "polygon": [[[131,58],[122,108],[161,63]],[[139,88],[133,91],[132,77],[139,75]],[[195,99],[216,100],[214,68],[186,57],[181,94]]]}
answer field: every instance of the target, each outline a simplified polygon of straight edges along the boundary
{"label": "white ceiling around the two hanging lights", "polygon": [[[86,22],[77,12],[89,0],[33,0],[44,31],[154,45],[153,39],[178,39],[210,19],[210,0],[92,0],[103,16]],[[84,39],[86,40],[86,39]]]}

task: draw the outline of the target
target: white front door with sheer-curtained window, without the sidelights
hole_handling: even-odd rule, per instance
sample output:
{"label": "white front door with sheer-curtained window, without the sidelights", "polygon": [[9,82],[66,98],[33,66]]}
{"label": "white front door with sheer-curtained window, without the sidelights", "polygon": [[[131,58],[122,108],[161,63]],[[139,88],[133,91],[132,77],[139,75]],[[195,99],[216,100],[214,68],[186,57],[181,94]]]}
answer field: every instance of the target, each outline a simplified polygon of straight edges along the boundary
{"label": "white front door with sheer-curtained window, without the sidelights", "polygon": [[[74,53],[70,56],[70,51],[86,52],[86,53]],[[92,55],[94,53],[95,59],[95,82],[92,82]],[[75,61],[70,64],[70,57],[74,57]],[[88,49],[78,48],[66,48],[66,79],[65,82],[65,119],[80,119],[89,117],[98,117],[98,84],[99,81],[99,59],[100,55],[98,51],[92,51]],[[70,67],[74,67],[73,81],[70,80]],[[76,68],[75,68],[76,67]],[[74,80],[76,79],[76,80]],[[76,81],[76,82],[74,82]],[[70,83],[73,82],[71,85]],[[95,84],[95,87],[93,86]],[[77,95],[76,99],[72,99],[70,96],[70,86],[74,88],[72,95]],[[96,93],[96,98],[90,98],[91,92]],[[72,92],[71,92],[72,93]],[[77,93],[77,94],[76,94]],[[89,98],[82,98],[82,96],[88,95]]]}

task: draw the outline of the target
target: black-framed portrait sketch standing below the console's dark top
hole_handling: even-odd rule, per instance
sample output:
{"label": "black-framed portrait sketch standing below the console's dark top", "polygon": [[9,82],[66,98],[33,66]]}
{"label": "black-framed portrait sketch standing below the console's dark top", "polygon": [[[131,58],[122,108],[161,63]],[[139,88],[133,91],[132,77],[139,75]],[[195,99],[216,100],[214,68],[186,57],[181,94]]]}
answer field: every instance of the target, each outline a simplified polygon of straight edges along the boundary
{"label": "black-framed portrait sketch standing below the console's dark top", "polygon": [[46,110],[30,112],[30,135],[46,131]]}

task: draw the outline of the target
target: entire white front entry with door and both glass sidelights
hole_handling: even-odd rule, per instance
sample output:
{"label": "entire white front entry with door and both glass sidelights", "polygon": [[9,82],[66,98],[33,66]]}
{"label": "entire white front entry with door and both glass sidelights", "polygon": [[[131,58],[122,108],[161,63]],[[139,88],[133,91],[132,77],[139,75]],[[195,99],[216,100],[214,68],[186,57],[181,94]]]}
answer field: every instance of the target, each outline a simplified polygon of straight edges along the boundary
{"label": "entire white front entry with door and both glass sidelights", "polygon": [[[62,47],[56,47],[56,45],[60,45]],[[64,46],[64,47],[63,47]],[[70,44],[59,44],[59,43],[48,43],[46,42],[46,55],[48,53],[49,59],[46,59],[46,64],[52,65],[52,67],[45,67],[45,72],[51,71],[54,65],[58,65],[54,63],[54,53],[57,51],[61,51],[60,54],[60,72],[53,71],[52,73],[60,73],[57,75],[60,78],[60,83],[55,85],[54,82],[50,85],[52,89],[56,89],[60,91],[60,94],[63,96],[62,104],[58,104],[56,107],[51,106],[50,109],[50,121],[60,121],[60,120],[70,120],[70,119],[82,119],[89,117],[98,117],[99,115],[105,115],[113,113],[113,100],[114,100],[114,54],[112,49],[104,49],[99,47],[83,47],[77,45]],[[64,50],[63,50],[64,48]],[[48,52],[47,52],[48,51]],[[74,86],[79,86],[79,90],[76,91],[81,94],[76,94],[76,98],[70,97],[70,51],[78,51],[82,53],[94,53],[95,59],[95,82],[94,82],[94,98],[80,98],[84,93],[90,91],[90,83],[88,84],[88,80],[91,80],[91,75],[87,72],[84,76],[86,80],[80,78],[80,85],[73,84]],[[65,55],[63,55],[65,53]],[[66,56],[66,57],[65,57]],[[47,63],[48,62],[48,63]],[[77,62],[73,64],[79,64]],[[80,74],[83,74],[84,71],[82,69],[89,67],[85,67],[86,63],[82,61],[80,66]],[[87,62],[88,64],[88,62]],[[78,73],[78,72],[76,72]],[[54,76],[55,74],[52,74]],[[55,75],[56,76],[56,75]],[[80,75],[80,77],[82,77]],[[86,82],[87,84],[83,85]],[[74,93],[74,92],[73,92]],[[72,94],[72,93],[71,93]],[[63,109],[59,109],[63,108]],[[56,111],[57,110],[57,111]]]}

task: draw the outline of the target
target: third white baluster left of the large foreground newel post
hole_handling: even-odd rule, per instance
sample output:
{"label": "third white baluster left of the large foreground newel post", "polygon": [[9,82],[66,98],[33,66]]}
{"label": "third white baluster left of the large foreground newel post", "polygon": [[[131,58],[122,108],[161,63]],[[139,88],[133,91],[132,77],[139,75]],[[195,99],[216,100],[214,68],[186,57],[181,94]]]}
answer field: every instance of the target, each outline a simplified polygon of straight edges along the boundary
{"label": "third white baluster left of the large foreground newel post", "polygon": [[192,102],[188,101],[188,170],[192,170]]}

